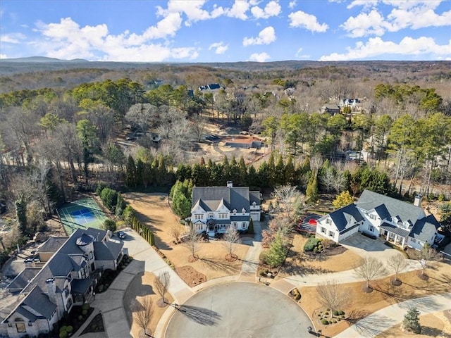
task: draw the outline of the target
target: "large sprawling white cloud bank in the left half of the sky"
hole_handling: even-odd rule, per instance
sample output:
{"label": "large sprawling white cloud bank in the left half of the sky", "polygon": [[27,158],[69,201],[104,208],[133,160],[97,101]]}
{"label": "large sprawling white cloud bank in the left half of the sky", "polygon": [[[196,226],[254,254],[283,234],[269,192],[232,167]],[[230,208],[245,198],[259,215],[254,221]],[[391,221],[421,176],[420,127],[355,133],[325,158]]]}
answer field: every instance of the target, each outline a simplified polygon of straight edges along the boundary
{"label": "large sprawling white cloud bank in the left half of the sky", "polygon": [[62,59],[136,62],[156,62],[168,58],[195,59],[199,56],[199,51],[194,47],[171,48],[168,42],[149,42],[174,35],[180,24],[180,15],[169,13],[142,35],[130,34],[128,31],[120,35],[109,35],[106,25],[80,27],[71,18],[63,18],[60,23],[39,23],[37,31],[42,32],[47,39],[31,44],[37,54]]}

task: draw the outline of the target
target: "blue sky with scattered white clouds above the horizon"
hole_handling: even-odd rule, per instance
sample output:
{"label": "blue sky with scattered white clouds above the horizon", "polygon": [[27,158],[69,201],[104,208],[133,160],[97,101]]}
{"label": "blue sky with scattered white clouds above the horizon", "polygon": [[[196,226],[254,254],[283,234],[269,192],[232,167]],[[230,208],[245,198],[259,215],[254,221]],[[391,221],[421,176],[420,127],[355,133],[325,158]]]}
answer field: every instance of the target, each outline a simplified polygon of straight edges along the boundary
{"label": "blue sky with scattered white clouds above the horizon", "polygon": [[0,58],[451,60],[451,2],[1,0]]}

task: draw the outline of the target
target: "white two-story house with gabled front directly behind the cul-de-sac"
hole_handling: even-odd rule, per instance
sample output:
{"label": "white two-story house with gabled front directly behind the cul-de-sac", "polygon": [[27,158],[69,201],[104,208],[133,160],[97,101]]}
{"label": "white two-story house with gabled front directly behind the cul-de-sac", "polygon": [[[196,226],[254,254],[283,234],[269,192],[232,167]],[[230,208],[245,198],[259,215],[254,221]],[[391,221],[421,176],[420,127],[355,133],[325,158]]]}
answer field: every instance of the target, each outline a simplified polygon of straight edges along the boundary
{"label": "white two-story house with gabled front directly behind the cul-de-sac", "polygon": [[228,227],[245,231],[249,220],[260,220],[260,192],[249,187],[194,187],[192,188],[191,221],[198,233],[209,236],[224,233]]}

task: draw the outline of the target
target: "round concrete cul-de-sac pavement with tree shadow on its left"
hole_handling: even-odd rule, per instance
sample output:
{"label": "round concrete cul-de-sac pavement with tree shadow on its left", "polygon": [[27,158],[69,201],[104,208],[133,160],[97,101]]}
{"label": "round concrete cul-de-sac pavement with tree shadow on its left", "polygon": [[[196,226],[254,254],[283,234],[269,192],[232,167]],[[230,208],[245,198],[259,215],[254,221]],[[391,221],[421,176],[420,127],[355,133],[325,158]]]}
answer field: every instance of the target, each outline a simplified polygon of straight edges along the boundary
{"label": "round concrete cul-de-sac pavement with tree shadow on its left", "polygon": [[304,337],[308,326],[314,325],[288,296],[263,284],[233,282],[188,299],[164,337]]}

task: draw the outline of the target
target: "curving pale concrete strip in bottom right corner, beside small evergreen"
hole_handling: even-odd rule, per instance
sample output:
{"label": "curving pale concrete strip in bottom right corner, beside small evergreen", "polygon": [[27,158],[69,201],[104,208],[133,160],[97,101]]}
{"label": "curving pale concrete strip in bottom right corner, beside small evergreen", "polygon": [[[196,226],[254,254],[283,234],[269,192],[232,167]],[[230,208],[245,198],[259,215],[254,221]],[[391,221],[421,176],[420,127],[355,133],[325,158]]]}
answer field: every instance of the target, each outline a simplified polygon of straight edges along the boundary
{"label": "curving pale concrete strip in bottom right corner, beside small evergreen", "polygon": [[409,306],[416,306],[420,311],[420,315],[450,310],[451,292],[409,299],[402,303],[381,308],[381,310],[348,327],[345,331],[336,335],[335,338],[376,337],[381,332],[390,329],[390,327],[402,323]]}

